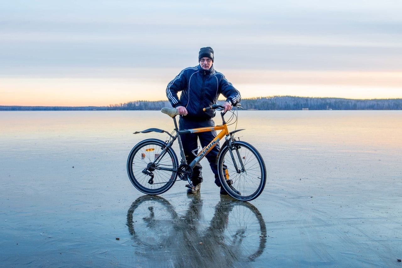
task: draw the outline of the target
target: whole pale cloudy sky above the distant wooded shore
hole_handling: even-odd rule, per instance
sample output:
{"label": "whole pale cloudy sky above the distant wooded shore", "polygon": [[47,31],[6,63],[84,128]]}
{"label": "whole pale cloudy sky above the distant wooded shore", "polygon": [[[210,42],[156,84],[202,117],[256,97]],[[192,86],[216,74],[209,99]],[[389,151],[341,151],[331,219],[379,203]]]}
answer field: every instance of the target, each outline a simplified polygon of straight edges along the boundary
{"label": "whole pale cloudy sky above the distant wooded shore", "polygon": [[243,98],[402,98],[400,0],[0,0],[0,105],[167,100],[215,51]]}

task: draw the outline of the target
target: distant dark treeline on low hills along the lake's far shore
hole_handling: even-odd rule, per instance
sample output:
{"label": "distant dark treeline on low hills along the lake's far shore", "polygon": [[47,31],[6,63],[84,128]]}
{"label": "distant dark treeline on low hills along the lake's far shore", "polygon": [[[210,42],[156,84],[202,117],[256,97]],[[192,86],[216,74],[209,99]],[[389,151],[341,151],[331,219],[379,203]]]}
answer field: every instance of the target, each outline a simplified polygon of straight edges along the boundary
{"label": "distant dark treeline on low hills along the lake's far shore", "polygon": [[[222,104],[223,101],[218,101]],[[402,99],[340,99],[292,96],[242,99],[244,109],[254,110],[402,110]],[[160,110],[171,107],[168,101],[130,101],[109,106],[0,106],[0,111],[92,111],[92,110]]]}

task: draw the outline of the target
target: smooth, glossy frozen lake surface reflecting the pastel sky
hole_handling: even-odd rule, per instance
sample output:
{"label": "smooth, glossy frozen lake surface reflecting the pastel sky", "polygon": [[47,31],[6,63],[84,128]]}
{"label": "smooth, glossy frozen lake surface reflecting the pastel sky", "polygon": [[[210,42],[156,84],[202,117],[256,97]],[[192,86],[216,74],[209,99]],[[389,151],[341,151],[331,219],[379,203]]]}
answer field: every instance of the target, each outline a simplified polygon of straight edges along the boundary
{"label": "smooth, glossy frozen lake surface reflecting the pastel sky", "polygon": [[159,111],[0,112],[0,267],[398,266],[402,111],[238,115],[268,171],[251,202],[206,160],[199,195],[137,191],[131,148],[166,135],[132,133],[172,130]]}

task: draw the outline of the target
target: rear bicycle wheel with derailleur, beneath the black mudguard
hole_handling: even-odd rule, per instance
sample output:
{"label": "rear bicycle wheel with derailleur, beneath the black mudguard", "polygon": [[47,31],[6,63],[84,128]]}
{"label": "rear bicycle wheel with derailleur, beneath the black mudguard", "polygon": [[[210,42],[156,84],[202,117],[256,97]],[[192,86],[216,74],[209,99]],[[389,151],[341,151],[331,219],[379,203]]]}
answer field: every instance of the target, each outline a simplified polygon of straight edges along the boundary
{"label": "rear bicycle wheel with derailleur, beneath the black mudguard", "polygon": [[[162,140],[146,139],[135,145],[129,154],[127,174],[133,186],[144,194],[162,194],[169,190],[176,181],[176,171],[154,169],[152,170],[154,175],[152,183],[150,183],[151,176],[143,172],[165,146],[166,143]],[[166,154],[158,161],[157,167],[177,169],[177,156],[172,148],[166,150]]]}

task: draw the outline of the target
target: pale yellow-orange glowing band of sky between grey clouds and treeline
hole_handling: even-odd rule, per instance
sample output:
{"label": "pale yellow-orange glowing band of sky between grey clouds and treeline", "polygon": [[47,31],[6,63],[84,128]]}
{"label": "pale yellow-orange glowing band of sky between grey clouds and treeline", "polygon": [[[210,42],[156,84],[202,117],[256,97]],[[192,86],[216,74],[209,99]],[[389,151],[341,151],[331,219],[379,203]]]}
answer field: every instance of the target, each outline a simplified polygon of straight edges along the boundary
{"label": "pale yellow-orange glowing band of sky between grey clouds and treeline", "polygon": [[[165,89],[172,70],[158,72],[160,79],[157,81],[136,78],[146,76],[138,73],[126,78],[0,78],[0,105],[108,106],[129,101],[167,100]],[[242,98],[397,99],[402,95],[402,72],[225,70],[224,73],[240,91]]]}

